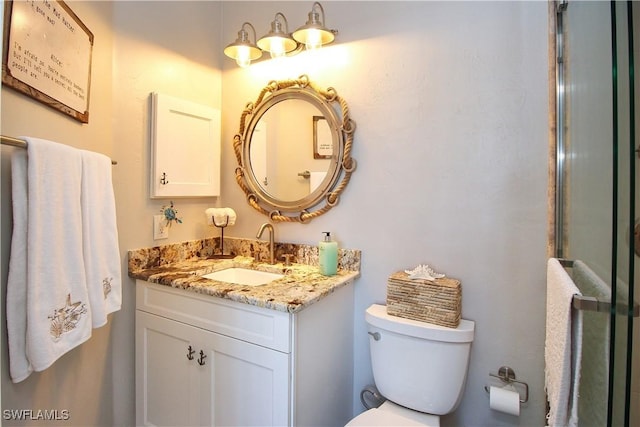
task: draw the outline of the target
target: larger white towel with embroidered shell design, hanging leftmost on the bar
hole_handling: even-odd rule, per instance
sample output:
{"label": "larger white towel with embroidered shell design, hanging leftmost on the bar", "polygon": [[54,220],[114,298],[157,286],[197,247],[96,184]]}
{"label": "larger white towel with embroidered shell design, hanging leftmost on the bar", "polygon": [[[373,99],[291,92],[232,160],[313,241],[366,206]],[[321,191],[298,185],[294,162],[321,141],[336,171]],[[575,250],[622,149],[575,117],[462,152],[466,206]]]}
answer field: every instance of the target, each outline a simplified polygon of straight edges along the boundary
{"label": "larger white towel with embroidered shell design, hanging leftmost on the bar", "polygon": [[13,235],[7,283],[13,382],[48,368],[91,336],[82,253],[80,151],[25,138],[12,158]]}

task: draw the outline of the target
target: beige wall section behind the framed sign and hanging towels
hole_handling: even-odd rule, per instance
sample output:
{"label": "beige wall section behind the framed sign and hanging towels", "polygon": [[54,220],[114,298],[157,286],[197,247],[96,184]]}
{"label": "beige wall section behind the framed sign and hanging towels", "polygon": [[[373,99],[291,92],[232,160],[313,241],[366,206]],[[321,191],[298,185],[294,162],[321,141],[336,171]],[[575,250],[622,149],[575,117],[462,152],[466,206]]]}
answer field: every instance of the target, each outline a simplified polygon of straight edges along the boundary
{"label": "beige wall section behind the framed sign and hanging towels", "polygon": [[[95,35],[89,124],[80,124],[3,86],[2,134],[51,139],[113,157],[111,5],[109,3],[77,3],[73,5],[73,10]],[[2,147],[3,300],[11,237],[9,153],[13,150],[15,148]],[[111,423],[113,419],[111,340],[114,338],[112,323],[95,330],[91,340],[63,356],[52,368],[40,374],[33,374],[18,384],[11,383],[9,379],[4,317],[2,323],[3,409],[68,409],[72,422],[101,425]],[[101,398],[96,399],[96,396]],[[13,422],[4,420],[3,424],[12,425]]]}

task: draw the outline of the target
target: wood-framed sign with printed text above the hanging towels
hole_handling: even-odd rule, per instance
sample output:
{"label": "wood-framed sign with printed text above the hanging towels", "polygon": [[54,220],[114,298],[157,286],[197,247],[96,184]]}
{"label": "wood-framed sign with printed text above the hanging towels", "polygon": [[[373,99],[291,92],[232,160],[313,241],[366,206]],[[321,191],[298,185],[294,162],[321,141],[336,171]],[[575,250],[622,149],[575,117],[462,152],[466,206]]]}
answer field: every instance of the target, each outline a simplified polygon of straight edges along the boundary
{"label": "wood-framed sign with printed text above the hanging towels", "polygon": [[5,3],[2,83],[89,122],[93,34],[61,0]]}

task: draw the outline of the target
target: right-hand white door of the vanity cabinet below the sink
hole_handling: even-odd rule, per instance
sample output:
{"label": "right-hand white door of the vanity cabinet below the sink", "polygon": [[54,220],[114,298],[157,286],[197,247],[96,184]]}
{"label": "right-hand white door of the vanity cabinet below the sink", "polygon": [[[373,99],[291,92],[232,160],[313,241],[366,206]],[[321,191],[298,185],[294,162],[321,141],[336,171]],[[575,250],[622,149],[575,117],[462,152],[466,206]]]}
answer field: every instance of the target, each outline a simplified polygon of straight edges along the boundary
{"label": "right-hand white door of the vanity cabinet below the sink", "polygon": [[289,355],[210,333],[207,363],[210,425],[286,426],[289,422]]}

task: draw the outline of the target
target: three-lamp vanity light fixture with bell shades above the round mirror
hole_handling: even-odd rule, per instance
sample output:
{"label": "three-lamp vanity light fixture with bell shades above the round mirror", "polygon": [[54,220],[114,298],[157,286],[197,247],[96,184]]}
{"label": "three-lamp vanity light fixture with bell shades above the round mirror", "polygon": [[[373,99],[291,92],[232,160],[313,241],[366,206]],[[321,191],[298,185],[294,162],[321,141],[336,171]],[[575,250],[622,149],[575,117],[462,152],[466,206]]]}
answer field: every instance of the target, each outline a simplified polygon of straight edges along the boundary
{"label": "three-lamp vanity light fixture with bell shades above the round mirror", "polygon": [[251,28],[253,40],[256,40],[256,30],[253,25],[245,22],[238,31],[238,39],[224,48],[224,54],[235,59],[243,68],[249,66],[251,61],[259,59],[262,51],[269,52],[272,58],[291,56],[301,52],[303,47],[314,50],[329,44],[335,40],[335,35],[338,33],[337,30],[329,30],[325,27],[324,9],[318,2],[313,3],[307,23],[293,34],[289,33],[289,23],[281,12],[276,13],[271,22],[271,31],[255,43],[251,42],[245,27]]}

